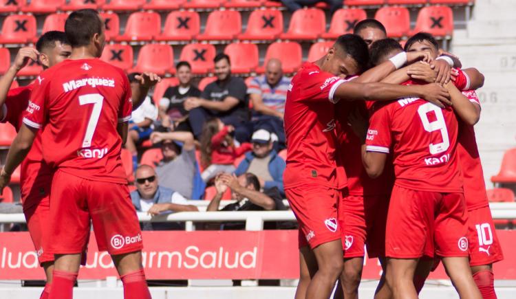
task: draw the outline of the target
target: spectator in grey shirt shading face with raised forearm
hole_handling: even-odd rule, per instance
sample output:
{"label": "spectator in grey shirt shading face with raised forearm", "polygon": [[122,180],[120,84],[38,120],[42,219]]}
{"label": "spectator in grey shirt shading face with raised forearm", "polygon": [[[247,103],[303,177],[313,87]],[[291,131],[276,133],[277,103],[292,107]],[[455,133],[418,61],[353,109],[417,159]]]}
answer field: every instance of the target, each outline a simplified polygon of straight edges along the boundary
{"label": "spectator in grey shirt shading face with raised forearm", "polygon": [[151,141],[161,142],[163,159],[156,166],[161,185],[191,199],[196,170],[195,144],[190,132],[154,132]]}

